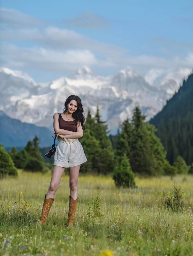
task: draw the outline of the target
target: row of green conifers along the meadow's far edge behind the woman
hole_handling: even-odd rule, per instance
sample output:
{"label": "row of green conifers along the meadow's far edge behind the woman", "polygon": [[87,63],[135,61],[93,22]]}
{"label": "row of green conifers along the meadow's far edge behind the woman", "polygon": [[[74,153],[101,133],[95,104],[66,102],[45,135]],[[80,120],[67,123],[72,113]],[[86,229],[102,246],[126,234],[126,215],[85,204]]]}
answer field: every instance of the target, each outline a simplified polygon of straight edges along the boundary
{"label": "row of green conifers along the meadow's far edge behind the woman", "polygon": [[[118,130],[116,136],[108,135],[108,126],[101,120],[98,106],[94,117],[88,110],[84,135],[79,139],[88,161],[81,165],[80,172],[95,175],[111,174],[118,187],[134,187],[135,175],[193,173],[192,167],[188,171],[186,162],[181,156],[175,159],[173,166],[170,165],[161,140],[155,135],[156,132],[152,124],[145,122],[145,116],[142,115],[139,107],[135,108],[131,120],[126,119],[122,123],[121,131]],[[1,146],[0,151],[2,150],[5,151]],[[48,159],[41,154],[37,136],[32,141],[28,141],[21,151],[13,148],[6,154],[12,161],[12,167],[9,167],[12,173],[16,173],[16,168],[32,172],[46,172],[48,169],[53,169],[54,157],[51,158],[52,165],[45,162]],[[0,173],[3,172],[1,161],[0,158]]]}

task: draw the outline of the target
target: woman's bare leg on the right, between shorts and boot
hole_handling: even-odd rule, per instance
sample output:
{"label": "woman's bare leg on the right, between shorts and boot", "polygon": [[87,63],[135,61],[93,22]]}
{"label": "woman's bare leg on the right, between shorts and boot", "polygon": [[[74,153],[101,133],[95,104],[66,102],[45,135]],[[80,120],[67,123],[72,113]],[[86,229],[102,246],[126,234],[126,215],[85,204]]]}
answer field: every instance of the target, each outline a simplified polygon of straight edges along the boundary
{"label": "woman's bare leg on the right, between shorts and boot", "polygon": [[78,197],[78,175],[81,165],[70,167],[70,195],[76,200]]}

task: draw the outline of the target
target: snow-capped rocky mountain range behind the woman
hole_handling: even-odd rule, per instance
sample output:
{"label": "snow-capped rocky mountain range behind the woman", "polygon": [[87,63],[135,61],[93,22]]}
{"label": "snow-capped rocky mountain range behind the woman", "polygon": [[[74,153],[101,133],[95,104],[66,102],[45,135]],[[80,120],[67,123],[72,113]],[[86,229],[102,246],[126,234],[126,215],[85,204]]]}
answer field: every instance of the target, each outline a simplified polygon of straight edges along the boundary
{"label": "snow-capped rocky mountain range behind the woman", "polygon": [[126,67],[102,77],[84,66],[69,77],[36,84],[28,75],[4,68],[0,69],[0,110],[22,122],[53,129],[53,114],[62,112],[68,96],[76,94],[82,99],[85,115],[88,108],[94,115],[98,104],[102,119],[115,133],[136,106],[147,115],[146,120],[151,119],[173,95],[168,89],[173,88],[173,81],[180,84],[180,76],[183,79],[186,73],[188,70],[178,71],[176,76],[175,72],[150,70],[143,78]]}

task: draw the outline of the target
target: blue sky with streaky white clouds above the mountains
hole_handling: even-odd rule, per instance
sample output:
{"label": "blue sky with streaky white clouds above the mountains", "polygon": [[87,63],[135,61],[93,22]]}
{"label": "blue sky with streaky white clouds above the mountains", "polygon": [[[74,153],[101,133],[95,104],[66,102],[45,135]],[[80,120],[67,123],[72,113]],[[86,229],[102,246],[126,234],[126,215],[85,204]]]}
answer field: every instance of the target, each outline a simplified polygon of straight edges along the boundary
{"label": "blue sky with streaky white clouds above the mountains", "polygon": [[86,65],[193,68],[192,0],[1,0],[0,66],[46,82]]}

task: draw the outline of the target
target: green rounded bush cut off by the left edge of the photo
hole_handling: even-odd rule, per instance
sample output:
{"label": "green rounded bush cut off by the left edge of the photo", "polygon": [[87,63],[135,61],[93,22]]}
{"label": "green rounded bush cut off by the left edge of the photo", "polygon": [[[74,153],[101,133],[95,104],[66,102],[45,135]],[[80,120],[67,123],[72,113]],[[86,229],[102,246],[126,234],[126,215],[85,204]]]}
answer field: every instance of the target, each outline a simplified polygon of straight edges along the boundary
{"label": "green rounded bush cut off by the left edge of the photo", "polygon": [[5,148],[0,144],[0,177],[3,178],[6,175],[17,176],[17,169],[14,166],[14,162],[11,156],[6,152]]}

